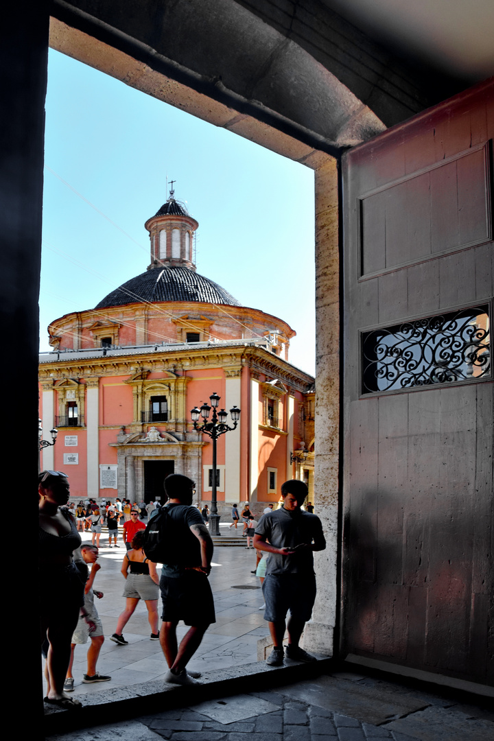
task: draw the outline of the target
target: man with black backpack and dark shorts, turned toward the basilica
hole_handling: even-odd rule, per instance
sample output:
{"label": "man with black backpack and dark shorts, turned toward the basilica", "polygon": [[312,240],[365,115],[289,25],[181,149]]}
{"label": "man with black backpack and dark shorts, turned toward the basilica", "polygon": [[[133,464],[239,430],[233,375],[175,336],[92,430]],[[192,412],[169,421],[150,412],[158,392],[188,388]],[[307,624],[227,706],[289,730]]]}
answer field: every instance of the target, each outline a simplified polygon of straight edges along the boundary
{"label": "man with black backpack and dark shorts, turned toward the basilica", "polygon": [[[160,591],[163,624],[159,640],[169,671],[166,682],[197,684],[197,672],[186,670],[210,623],[216,622],[213,593],[207,580],[211,571],[213,541],[201,513],[192,507],[196,484],[172,473],[164,479],[168,501],[146,528],[144,553],[163,564]],[[189,631],[177,644],[178,621]]]}

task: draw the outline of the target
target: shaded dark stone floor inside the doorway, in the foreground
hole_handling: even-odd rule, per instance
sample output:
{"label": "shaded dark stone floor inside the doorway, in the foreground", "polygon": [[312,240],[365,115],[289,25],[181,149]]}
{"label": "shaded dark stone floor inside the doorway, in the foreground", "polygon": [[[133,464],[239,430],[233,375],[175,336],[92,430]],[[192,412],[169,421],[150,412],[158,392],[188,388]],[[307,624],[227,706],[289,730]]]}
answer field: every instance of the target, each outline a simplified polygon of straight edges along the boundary
{"label": "shaded dark stone floor inside the doorway, in the foreground", "polygon": [[[279,681],[283,676],[279,669],[263,669],[264,674],[253,677],[250,684],[262,684],[262,679],[269,680],[269,673],[273,673],[276,685],[276,679]],[[435,687],[431,690],[432,685],[356,671],[333,671],[270,690],[229,695],[232,681],[224,679],[223,697],[201,700],[201,693],[207,694],[207,683],[202,688],[171,688],[166,695],[167,710],[47,738],[50,741],[494,740],[494,713],[488,709],[492,700],[481,700],[457,690]],[[173,694],[176,707],[173,707]]]}

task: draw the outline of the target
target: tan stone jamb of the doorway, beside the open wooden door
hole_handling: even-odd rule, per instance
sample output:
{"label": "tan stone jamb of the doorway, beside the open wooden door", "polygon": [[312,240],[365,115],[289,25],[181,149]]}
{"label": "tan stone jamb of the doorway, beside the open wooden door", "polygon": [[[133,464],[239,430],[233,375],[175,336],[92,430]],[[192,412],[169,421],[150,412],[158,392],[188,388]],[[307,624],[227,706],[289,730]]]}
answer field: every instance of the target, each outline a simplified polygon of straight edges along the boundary
{"label": "tan stone jamb of the doorway, beside the open wooden door", "polygon": [[317,598],[305,628],[309,650],[331,656],[337,610],[339,445],[338,168],[329,157],[316,170],[316,457],[314,504],[326,550],[314,554]]}

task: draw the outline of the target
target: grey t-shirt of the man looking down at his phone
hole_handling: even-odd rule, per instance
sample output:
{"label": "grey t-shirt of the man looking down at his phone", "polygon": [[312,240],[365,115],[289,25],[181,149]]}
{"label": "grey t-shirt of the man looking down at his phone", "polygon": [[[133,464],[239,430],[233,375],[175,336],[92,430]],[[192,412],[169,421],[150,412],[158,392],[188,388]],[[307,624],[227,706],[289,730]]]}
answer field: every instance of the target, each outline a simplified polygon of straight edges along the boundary
{"label": "grey t-shirt of the man looking down at his phone", "polygon": [[[261,535],[275,548],[295,548],[296,545],[316,542],[324,548],[321,520],[315,514],[301,510],[289,512],[284,507],[264,514],[259,520],[256,535]],[[314,559],[310,548],[303,548],[290,556],[269,554],[267,574],[313,574]]]}

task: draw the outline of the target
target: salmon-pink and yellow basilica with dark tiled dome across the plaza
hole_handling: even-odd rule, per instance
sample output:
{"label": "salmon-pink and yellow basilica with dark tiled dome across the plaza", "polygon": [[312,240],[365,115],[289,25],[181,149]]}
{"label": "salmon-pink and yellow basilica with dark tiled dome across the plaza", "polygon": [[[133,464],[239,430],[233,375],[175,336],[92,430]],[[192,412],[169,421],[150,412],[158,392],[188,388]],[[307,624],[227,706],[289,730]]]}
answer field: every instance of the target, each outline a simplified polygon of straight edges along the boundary
{"label": "salmon-pink and yellow basilica with dark tiled dome across the plaza", "polygon": [[241,411],[218,439],[218,512],[276,502],[293,477],[313,491],[314,379],[288,362],[295,331],[197,272],[198,222],[173,190],[145,227],[147,270],[48,328],[39,416],[59,436],[41,467],[66,471],[75,500],[148,502],[183,473],[207,502],[213,445],[190,411],[216,394],[231,427]]}

